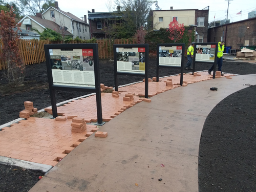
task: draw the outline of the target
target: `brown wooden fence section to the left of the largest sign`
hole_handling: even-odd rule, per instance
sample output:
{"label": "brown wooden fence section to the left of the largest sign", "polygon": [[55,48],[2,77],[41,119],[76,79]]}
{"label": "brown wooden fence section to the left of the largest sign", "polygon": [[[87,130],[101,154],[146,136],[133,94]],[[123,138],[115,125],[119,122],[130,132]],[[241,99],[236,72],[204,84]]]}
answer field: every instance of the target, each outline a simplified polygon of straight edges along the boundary
{"label": "brown wooden fence section to the left of the largest sign", "polygon": [[[19,40],[20,56],[22,56],[25,65],[44,62],[46,60],[44,45],[51,44],[49,40]],[[0,54],[2,53],[2,41],[0,41]],[[7,69],[6,63],[1,59],[0,70]]]}

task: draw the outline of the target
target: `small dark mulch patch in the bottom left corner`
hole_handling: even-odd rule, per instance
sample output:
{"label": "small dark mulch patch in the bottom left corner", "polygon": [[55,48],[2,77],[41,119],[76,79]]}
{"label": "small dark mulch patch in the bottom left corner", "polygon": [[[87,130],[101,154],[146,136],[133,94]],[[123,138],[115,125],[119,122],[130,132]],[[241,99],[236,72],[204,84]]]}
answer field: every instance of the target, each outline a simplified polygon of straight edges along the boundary
{"label": "small dark mulch patch in the bottom left corner", "polygon": [[23,169],[17,166],[0,164],[0,191],[29,191],[45,174],[41,170]]}

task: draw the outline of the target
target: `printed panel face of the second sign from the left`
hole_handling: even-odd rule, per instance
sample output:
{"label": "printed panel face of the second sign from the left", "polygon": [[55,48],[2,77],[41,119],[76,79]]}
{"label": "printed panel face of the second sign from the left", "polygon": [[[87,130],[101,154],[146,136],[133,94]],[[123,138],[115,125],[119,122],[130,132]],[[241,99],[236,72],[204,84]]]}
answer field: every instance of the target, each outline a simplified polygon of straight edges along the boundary
{"label": "printed panel face of the second sign from the left", "polygon": [[145,48],[116,48],[118,72],[145,74]]}

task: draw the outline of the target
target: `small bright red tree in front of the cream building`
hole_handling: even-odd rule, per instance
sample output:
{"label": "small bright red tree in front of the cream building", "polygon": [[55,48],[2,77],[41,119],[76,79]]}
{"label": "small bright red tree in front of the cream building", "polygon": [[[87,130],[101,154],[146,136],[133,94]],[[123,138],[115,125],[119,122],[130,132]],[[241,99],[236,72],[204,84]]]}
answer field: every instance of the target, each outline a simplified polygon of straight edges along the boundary
{"label": "small bright red tree in front of the cream building", "polygon": [[170,40],[174,40],[174,42],[176,43],[176,41],[179,41],[182,38],[182,35],[185,31],[184,28],[184,24],[179,24],[176,20],[176,18],[174,17],[173,22],[170,22],[169,24],[169,39]]}

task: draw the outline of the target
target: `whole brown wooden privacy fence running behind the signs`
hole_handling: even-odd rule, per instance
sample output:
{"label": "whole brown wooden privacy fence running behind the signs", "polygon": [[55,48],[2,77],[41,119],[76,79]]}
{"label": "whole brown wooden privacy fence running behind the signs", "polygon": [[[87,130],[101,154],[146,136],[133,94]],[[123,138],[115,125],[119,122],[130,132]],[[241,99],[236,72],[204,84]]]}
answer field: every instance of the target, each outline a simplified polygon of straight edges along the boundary
{"label": "whole brown wooden privacy fence running behind the signs", "polygon": [[[72,41],[71,44],[76,44],[79,42]],[[80,42],[83,43],[83,42]],[[45,44],[52,44],[49,40],[23,40],[19,41],[20,55],[22,56],[25,65],[31,65],[34,63],[44,62],[45,57]],[[98,51],[99,59],[113,59],[113,45],[114,44],[136,44],[135,39],[98,39]],[[0,54],[2,53],[2,41],[0,40]],[[0,58],[0,70],[7,69],[6,63]]]}

